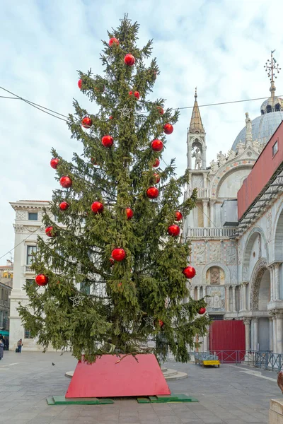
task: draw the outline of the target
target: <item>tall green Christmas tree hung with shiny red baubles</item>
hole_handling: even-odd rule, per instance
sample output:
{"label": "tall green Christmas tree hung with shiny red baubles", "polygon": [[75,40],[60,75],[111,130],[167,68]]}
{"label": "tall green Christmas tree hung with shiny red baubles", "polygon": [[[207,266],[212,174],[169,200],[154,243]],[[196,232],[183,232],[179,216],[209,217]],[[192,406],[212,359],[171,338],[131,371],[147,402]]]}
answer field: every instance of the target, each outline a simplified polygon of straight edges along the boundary
{"label": "tall green Christmas tree hung with shiny red baubles", "polygon": [[178,111],[146,100],[159,71],[149,61],[152,40],[137,47],[138,30],[125,16],[103,42],[104,75],[79,72],[79,88],[99,111],[75,101],[69,115],[83,155],[69,163],[52,149],[62,188],[45,211],[49,237],[38,240],[29,303],[18,307],[42,346],[71,347],[89,362],[105,353],[163,360],[168,349],[185,362],[209,324],[205,300],[190,298],[195,269],[179,235],[197,193],[180,204],[188,172],[176,177],[174,160],[160,166]]}

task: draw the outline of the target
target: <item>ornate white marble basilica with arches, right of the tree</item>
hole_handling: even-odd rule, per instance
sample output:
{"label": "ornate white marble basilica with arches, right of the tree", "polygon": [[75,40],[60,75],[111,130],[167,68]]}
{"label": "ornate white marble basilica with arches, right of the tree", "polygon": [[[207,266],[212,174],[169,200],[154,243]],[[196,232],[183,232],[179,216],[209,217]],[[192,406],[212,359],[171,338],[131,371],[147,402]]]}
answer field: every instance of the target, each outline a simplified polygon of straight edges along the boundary
{"label": "ornate white marble basilica with arches, right of the tree", "polygon": [[[283,353],[282,126],[277,130],[283,120],[283,100],[275,95],[277,65],[272,55],[267,70],[271,96],[262,103],[260,116],[251,120],[247,112],[246,126],[229,152],[220,151],[209,167],[195,93],[187,131],[190,184],[185,199],[194,189],[198,199],[185,220],[183,237],[192,242],[190,263],[197,270],[190,285],[192,298],[209,295],[207,312],[214,319],[243,319],[246,350]],[[270,175],[261,181],[260,176],[269,173],[265,166],[270,157]],[[250,193],[257,184],[258,197],[253,199]],[[245,204],[248,196],[250,203]],[[206,337],[202,350],[208,349]]]}

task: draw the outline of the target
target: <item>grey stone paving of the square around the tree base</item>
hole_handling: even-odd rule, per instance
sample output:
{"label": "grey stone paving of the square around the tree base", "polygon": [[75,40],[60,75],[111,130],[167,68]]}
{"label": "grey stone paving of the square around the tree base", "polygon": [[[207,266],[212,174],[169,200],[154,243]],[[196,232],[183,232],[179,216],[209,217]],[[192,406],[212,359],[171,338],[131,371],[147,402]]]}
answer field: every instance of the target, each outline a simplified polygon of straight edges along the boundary
{"label": "grey stone paving of the square around the tree base", "polygon": [[[52,365],[52,362],[55,365]],[[271,398],[282,397],[276,372],[235,365],[202,368],[166,364],[188,373],[169,382],[174,393],[195,396],[197,404],[137,404],[134,399],[113,405],[47,406],[50,395],[66,392],[74,370],[70,353],[4,352],[0,361],[0,423],[5,424],[242,424],[268,423]]]}

